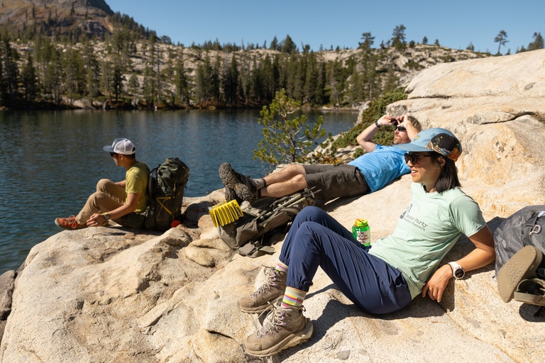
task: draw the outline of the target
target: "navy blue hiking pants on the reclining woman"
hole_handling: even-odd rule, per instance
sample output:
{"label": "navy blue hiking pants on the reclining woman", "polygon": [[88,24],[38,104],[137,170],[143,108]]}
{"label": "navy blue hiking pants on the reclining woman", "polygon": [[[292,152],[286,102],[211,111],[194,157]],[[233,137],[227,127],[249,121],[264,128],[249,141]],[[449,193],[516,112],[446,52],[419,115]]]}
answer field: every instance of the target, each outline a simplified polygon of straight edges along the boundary
{"label": "navy blue hiking pants on the reclining woman", "polygon": [[400,270],[370,255],[350,231],[315,206],[303,208],[287,233],[280,261],[287,264],[286,285],[309,291],[318,267],[363,311],[385,314],[411,301]]}

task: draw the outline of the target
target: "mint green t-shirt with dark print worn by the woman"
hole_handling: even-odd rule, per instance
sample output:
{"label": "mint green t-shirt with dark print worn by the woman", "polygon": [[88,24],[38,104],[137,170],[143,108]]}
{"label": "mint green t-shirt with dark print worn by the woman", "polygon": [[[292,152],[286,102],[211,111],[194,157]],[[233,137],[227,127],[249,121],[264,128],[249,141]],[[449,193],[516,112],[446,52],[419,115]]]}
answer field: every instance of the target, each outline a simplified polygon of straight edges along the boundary
{"label": "mint green t-shirt with dark print worn by the woman", "polygon": [[426,193],[422,184],[412,183],[411,191],[394,233],[375,242],[369,253],[400,269],[414,298],[460,235],[474,235],[486,222],[478,204],[459,188]]}

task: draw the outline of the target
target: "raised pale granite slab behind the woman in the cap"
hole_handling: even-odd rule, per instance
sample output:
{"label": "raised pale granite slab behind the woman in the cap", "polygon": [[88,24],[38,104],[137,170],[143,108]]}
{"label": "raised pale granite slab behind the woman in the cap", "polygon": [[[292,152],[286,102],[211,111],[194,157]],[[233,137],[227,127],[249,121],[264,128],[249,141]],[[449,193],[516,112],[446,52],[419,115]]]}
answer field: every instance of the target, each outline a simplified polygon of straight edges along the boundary
{"label": "raised pale granite slab behind the woman in the cap", "polygon": [[545,50],[436,65],[407,92],[392,108],[459,135],[461,177],[483,208],[505,216],[544,200]]}

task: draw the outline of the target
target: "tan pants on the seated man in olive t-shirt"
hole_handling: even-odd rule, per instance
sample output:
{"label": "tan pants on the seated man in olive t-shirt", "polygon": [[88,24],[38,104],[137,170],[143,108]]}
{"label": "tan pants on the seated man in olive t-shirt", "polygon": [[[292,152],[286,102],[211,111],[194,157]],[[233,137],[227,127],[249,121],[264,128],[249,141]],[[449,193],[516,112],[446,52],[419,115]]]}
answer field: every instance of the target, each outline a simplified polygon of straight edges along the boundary
{"label": "tan pants on the seated man in olive t-shirt", "polygon": [[[100,179],[97,191],[89,196],[82,210],[76,216],[78,224],[85,224],[94,213],[106,213],[123,206],[127,199],[125,189],[109,179]],[[114,220],[116,223],[119,221]],[[119,223],[121,224],[121,223]]]}

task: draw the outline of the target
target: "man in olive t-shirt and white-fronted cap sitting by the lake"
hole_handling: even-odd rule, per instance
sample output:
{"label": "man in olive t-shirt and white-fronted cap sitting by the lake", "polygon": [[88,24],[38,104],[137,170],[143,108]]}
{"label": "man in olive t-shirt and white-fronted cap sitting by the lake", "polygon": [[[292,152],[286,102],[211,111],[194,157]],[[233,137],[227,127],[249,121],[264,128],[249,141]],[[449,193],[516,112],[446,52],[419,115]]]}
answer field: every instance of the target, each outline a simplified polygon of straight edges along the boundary
{"label": "man in olive t-shirt and white-fronted cap sitting by the lake", "polygon": [[124,227],[143,227],[150,169],[136,160],[136,148],[131,140],[116,139],[111,146],[104,146],[104,151],[110,153],[117,166],[126,169],[125,180],[100,179],[97,191],[89,196],[77,216],[55,219],[60,228],[98,227],[107,225],[110,219]]}

